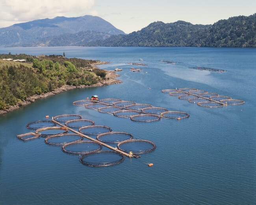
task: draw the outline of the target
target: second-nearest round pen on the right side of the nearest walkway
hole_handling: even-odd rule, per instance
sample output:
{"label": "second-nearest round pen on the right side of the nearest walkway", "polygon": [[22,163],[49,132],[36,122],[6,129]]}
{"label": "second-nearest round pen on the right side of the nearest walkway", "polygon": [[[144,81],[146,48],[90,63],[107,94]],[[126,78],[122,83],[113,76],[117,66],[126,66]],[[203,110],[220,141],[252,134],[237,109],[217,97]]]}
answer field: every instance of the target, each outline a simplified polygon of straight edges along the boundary
{"label": "second-nearest round pen on the right side of the nearest walkway", "polygon": [[104,143],[119,143],[128,139],[133,139],[133,136],[126,132],[107,132],[97,136],[97,140]]}

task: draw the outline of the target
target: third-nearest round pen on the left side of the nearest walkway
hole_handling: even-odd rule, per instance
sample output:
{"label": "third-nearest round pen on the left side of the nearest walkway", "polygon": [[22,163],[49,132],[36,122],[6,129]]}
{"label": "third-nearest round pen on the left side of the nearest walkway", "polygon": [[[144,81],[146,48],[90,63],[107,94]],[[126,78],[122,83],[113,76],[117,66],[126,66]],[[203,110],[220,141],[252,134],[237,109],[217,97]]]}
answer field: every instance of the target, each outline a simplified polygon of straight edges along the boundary
{"label": "third-nearest round pen on the left side of the nearest walkway", "polygon": [[49,137],[46,137],[45,143],[50,145],[55,145],[55,146],[62,146],[67,143],[78,142],[82,139],[83,137],[81,137],[80,135],[66,133],[66,134],[51,135]]}

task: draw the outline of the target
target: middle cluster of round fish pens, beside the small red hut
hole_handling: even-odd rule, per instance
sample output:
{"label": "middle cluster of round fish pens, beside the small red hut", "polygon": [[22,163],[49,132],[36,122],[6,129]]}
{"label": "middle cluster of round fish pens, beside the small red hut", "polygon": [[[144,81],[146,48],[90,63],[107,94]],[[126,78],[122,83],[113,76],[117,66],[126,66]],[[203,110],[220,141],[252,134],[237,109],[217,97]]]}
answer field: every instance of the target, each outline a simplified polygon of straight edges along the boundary
{"label": "middle cluster of round fish pens, beside the small red hut", "polygon": [[188,113],[181,111],[168,111],[163,107],[154,107],[150,104],[141,104],[133,101],[123,101],[117,98],[106,98],[99,101],[78,100],[72,103],[88,109],[95,109],[102,113],[130,118],[136,122],[154,122],[161,118],[177,119],[189,117]]}

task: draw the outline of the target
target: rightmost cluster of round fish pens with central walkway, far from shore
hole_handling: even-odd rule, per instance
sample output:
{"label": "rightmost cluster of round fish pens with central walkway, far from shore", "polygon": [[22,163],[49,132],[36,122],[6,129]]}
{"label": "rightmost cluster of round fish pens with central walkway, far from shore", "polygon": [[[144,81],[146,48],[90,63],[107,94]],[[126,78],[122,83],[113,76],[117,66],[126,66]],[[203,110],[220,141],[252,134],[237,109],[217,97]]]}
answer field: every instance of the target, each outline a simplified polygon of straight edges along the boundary
{"label": "rightmost cluster of round fish pens with central walkway, far from shore", "polygon": [[187,100],[191,103],[197,103],[202,107],[223,107],[245,103],[243,100],[236,100],[229,96],[221,96],[217,93],[195,88],[164,89],[162,92],[169,93],[171,96],[178,96],[179,99]]}

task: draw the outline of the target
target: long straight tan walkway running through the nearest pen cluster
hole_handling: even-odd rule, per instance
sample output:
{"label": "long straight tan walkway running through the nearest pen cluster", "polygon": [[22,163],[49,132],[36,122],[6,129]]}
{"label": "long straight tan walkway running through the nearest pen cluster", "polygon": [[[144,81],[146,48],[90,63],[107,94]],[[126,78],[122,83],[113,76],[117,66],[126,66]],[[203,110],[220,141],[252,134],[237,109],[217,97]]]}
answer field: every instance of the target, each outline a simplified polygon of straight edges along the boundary
{"label": "long straight tan walkway running through the nearest pen cluster", "polygon": [[96,140],[96,139],[93,139],[92,137],[89,137],[89,136],[87,136],[87,135],[84,135],[83,133],[80,133],[80,132],[78,132],[78,131],[76,131],[76,130],[70,128],[70,127],[67,127],[67,126],[65,126],[65,125],[63,125],[63,124],[61,124],[61,123],[59,123],[58,121],[54,120],[54,118],[52,118],[52,121],[53,121],[54,123],[58,124],[59,126],[65,127],[65,128],[67,128],[68,130],[70,130],[70,131],[72,131],[72,132],[78,134],[78,135],[81,136],[81,137],[85,137],[85,138],[87,138],[87,139],[89,139],[89,140],[92,140],[93,142],[96,142],[96,143],[101,144],[102,146],[105,146],[105,147],[107,147],[107,148],[109,148],[109,149],[111,149],[111,150],[114,150],[114,151],[116,151],[116,152],[119,152],[119,153],[121,153],[122,155],[124,155],[124,156],[126,156],[126,157],[129,157],[129,158],[132,158],[132,157],[135,157],[135,158],[136,158],[136,157],[137,157],[136,155],[128,154],[128,153],[126,153],[126,152],[124,152],[124,151],[121,151],[121,150],[118,150],[118,149],[116,150],[116,148],[114,148],[114,147],[112,147],[112,146],[110,146],[110,145],[108,145],[108,144],[106,144],[106,143],[104,143],[104,142],[100,142],[99,140]]}

